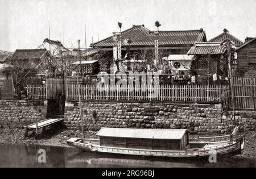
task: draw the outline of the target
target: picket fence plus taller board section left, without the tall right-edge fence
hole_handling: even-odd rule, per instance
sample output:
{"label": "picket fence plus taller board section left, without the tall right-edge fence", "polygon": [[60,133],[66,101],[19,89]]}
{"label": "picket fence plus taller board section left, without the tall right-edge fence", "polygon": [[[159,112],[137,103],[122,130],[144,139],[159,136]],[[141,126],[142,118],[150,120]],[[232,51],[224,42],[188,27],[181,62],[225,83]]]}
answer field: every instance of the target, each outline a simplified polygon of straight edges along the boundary
{"label": "picket fence plus taller board section left, without the tall right-edge fence", "polygon": [[[76,78],[67,78],[65,98],[78,100]],[[226,101],[229,97],[229,86],[226,85],[159,85],[127,86],[117,88],[96,85],[85,85],[80,82],[81,99],[97,100],[137,100],[137,101]],[[64,90],[62,78],[47,78],[45,84],[27,85],[29,99],[52,99]]]}

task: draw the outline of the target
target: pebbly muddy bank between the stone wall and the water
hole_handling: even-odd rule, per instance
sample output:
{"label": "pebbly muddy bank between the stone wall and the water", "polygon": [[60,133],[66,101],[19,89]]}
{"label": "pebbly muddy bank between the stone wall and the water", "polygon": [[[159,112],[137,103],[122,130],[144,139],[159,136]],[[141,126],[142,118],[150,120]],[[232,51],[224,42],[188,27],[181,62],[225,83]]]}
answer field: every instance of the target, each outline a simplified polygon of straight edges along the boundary
{"label": "pebbly muddy bank between the stone wall and the water", "polygon": [[[69,138],[81,138],[80,131],[72,130],[59,130],[54,133],[47,133],[40,139],[36,140],[32,137],[24,139],[24,129],[13,127],[3,128],[0,131],[0,145],[5,144],[39,144],[39,145],[52,145],[69,147],[66,140]],[[191,135],[193,137],[193,135]],[[198,135],[197,135],[198,136]],[[95,131],[85,131],[85,138],[96,138]],[[256,159],[256,132],[246,132],[245,149],[241,155],[235,156],[236,158]]]}

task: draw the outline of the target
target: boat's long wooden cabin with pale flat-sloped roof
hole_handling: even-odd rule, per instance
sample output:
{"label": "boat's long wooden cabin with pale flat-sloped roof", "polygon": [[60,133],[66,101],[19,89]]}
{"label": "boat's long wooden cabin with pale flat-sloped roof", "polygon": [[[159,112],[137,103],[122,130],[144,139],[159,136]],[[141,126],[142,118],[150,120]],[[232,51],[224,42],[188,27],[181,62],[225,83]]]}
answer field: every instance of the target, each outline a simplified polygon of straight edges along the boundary
{"label": "boat's long wooden cabin with pale flat-sloped roof", "polygon": [[101,128],[100,145],[108,147],[183,151],[188,145],[185,129]]}

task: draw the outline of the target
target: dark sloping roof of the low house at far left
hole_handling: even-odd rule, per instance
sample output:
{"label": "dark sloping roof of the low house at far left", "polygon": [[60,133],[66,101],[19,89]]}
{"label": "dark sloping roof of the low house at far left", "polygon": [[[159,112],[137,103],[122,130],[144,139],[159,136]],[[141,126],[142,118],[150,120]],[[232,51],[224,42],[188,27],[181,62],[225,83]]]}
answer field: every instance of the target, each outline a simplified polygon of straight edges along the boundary
{"label": "dark sloping roof of the low house at far left", "polygon": [[16,49],[11,56],[16,59],[39,59],[44,53],[47,53],[47,49]]}

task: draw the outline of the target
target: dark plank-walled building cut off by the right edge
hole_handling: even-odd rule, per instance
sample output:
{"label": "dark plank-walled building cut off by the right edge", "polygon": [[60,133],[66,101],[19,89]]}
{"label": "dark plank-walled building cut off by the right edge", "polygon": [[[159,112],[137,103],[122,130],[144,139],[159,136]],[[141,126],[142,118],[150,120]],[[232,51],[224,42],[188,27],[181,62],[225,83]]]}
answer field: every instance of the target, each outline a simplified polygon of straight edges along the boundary
{"label": "dark plank-walled building cut off by the right edge", "polygon": [[237,76],[256,77],[256,38],[237,48]]}

